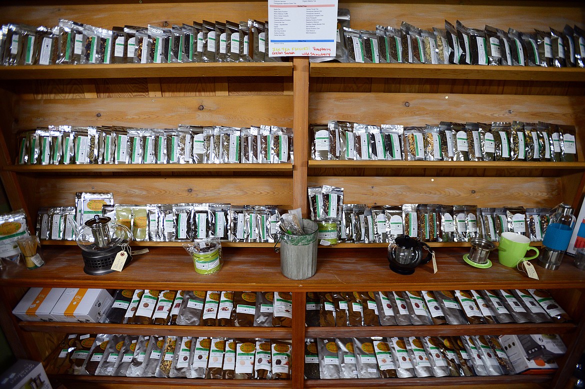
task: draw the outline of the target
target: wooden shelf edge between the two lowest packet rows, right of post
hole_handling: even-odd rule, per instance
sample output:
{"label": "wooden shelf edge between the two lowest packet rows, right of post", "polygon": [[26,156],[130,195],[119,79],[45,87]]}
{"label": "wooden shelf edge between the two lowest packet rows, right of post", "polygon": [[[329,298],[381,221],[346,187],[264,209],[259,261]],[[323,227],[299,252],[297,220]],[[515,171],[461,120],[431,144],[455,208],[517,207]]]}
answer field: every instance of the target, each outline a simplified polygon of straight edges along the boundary
{"label": "wooden shelf edge between the two lowest packet rows, right of post", "polygon": [[562,334],[577,329],[574,323],[508,323],[465,325],[404,325],[370,327],[307,327],[307,338],[350,338],[353,336],[457,336],[518,335],[533,333]]}

